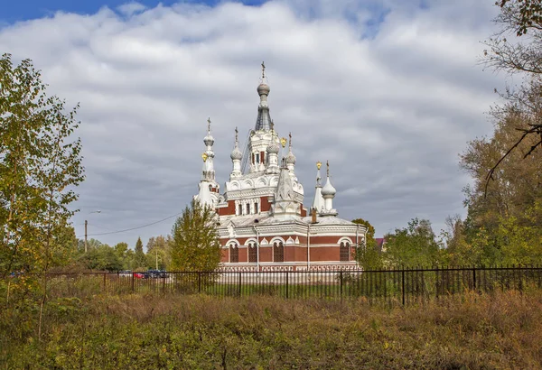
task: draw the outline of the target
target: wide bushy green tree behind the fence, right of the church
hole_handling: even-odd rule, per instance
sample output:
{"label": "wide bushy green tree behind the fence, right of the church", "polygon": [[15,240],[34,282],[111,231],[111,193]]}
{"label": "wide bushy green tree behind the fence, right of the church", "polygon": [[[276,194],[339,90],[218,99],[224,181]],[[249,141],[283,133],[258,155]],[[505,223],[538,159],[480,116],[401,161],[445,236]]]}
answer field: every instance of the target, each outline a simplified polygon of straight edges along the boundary
{"label": "wide bushy green tree behind the fence, right of the church", "polygon": [[434,266],[440,263],[439,245],[428,220],[413,218],[408,227],[386,238],[385,258],[391,267]]}

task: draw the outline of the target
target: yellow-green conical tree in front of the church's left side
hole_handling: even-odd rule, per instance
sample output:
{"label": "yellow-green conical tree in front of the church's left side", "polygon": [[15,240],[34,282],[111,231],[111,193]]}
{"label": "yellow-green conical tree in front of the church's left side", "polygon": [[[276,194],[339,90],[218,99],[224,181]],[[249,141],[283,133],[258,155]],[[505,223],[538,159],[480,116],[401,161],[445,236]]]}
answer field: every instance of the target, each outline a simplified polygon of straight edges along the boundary
{"label": "yellow-green conical tree in front of the church's left side", "polygon": [[192,199],[173,224],[172,269],[214,271],[220,264],[220,241],[214,211]]}

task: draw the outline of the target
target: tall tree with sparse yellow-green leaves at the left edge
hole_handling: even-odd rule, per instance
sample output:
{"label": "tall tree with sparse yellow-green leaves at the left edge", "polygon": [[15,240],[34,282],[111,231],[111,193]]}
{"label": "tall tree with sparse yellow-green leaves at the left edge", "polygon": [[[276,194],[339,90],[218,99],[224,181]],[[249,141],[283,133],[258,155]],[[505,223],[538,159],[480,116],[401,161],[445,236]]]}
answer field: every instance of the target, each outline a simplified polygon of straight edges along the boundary
{"label": "tall tree with sparse yellow-green leaves at the left edge", "polygon": [[[80,141],[72,134],[78,106],[47,97],[31,60],[0,58],[0,275],[39,272],[65,263],[66,238],[83,180]],[[70,238],[70,237],[68,237]]]}

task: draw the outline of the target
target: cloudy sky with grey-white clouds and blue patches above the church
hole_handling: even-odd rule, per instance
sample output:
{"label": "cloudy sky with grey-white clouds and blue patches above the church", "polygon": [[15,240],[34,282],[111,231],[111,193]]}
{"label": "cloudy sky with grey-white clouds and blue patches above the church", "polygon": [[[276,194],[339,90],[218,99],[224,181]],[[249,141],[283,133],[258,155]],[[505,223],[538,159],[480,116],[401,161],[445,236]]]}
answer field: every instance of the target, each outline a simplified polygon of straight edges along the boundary
{"label": "cloudy sky with grey-white clouds and blue patches above the church", "polygon": [[[330,161],[340,217],[382,236],[412,217],[435,231],[462,214],[458,154],[490,134],[504,76],[483,71],[494,0],[20,0],[0,14],[0,51],[30,58],[51,94],[80,102],[87,180],[78,236],[110,245],[170,232],[197,192],[210,116],[216,171],[231,171],[257,117],[266,62],[276,130],[293,134],[305,205]],[[101,210],[101,213],[91,213]]]}

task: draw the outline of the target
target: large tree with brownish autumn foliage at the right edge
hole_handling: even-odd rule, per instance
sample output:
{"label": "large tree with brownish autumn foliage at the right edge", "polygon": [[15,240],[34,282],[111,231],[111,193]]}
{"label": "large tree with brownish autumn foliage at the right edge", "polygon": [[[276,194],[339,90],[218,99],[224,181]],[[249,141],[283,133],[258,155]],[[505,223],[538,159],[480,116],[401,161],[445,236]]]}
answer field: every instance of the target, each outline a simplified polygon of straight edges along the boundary
{"label": "large tree with brownish autumn foliage at the right edge", "polygon": [[[536,101],[542,106],[542,96],[538,96]],[[542,153],[531,150],[537,140],[534,137],[521,141],[516,151],[509,153],[500,162],[499,171],[494,172],[493,180],[489,183],[486,181],[493,163],[499,160],[509,146],[518,142],[522,135],[518,128],[527,125],[525,116],[512,108],[500,112],[495,119],[491,138],[473,140],[461,155],[461,167],[474,180],[472,187],[465,189],[467,231],[484,227],[492,232],[499,227],[501,219],[510,216],[529,224],[531,221],[525,218],[526,209],[542,200]],[[535,220],[535,225],[542,227],[541,221]]]}

